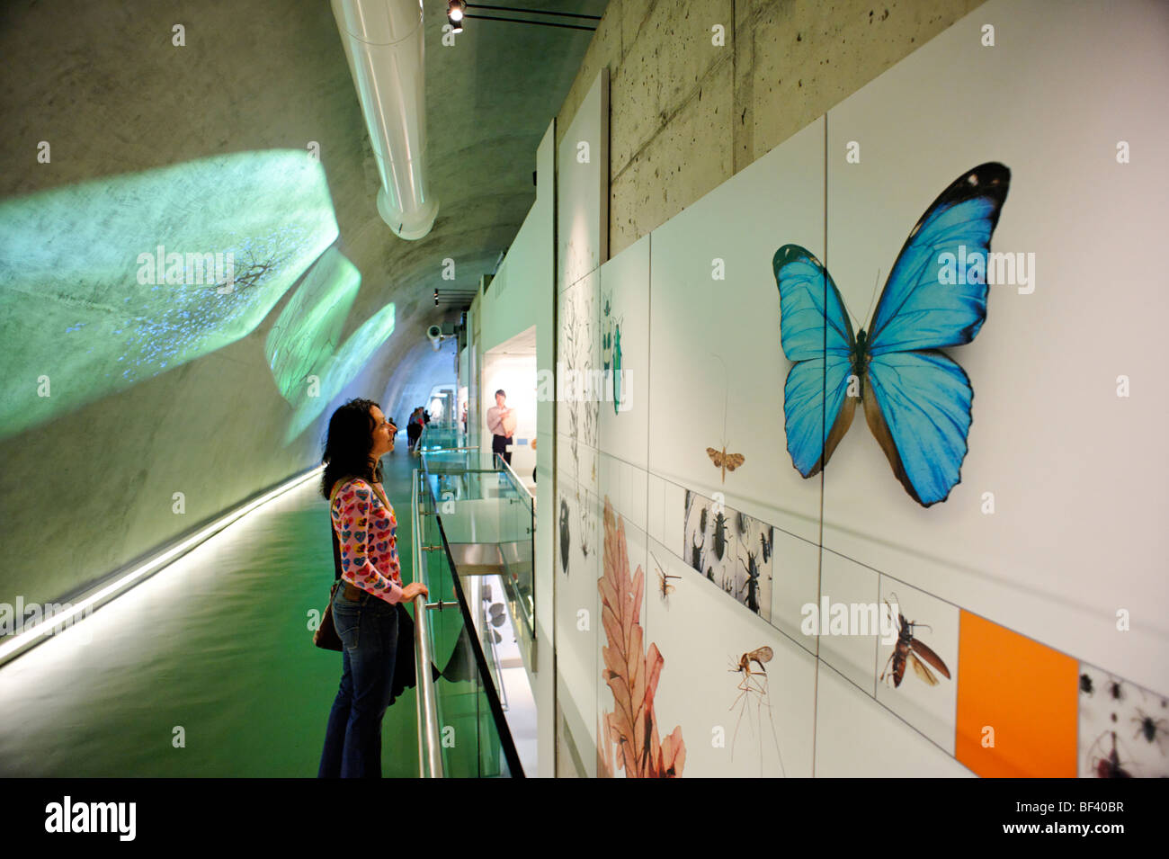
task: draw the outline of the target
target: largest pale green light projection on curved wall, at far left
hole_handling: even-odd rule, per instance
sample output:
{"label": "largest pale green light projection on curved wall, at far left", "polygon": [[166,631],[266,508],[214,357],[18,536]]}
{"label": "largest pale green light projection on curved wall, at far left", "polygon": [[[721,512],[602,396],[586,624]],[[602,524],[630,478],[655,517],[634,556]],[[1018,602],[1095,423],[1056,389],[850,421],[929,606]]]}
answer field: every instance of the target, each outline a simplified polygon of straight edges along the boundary
{"label": "largest pale green light projection on curved wall, at far left", "polygon": [[0,437],[245,337],[337,235],[300,151],[0,202]]}

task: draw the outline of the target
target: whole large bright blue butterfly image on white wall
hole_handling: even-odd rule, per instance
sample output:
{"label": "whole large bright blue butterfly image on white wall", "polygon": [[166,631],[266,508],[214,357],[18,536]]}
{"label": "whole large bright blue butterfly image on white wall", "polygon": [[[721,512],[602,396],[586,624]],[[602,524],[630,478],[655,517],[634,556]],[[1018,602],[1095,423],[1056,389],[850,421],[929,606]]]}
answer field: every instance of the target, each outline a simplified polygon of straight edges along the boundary
{"label": "whole large bright blue butterfly image on white wall", "polygon": [[775,251],[780,341],[795,362],[783,388],[788,452],[803,477],[828,463],[859,399],[913,500],[928,507],[957,485],[974,390],[939,349],[970,342],[987,319],[987,255],[1010,178],[1003,165],[983,164],[934,200],[905,241],[867,331],[855,335],[819,261],[797,244]]}

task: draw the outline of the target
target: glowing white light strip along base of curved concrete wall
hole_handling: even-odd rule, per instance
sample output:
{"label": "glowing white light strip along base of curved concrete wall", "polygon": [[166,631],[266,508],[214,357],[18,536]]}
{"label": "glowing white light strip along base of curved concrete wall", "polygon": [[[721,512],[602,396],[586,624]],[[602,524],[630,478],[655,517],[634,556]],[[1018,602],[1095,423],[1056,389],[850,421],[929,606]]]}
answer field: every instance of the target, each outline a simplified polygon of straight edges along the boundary
{"label": "glowing white light strip along base of curved concrete wall", "polygon": [[[182,555],[191,552],[193,548],[208,539],[223,531],[226,527],[233,522],[238,521],[243,517],[248,515],[258,507],[268,504],[276,498],[279,498],[285,492],[297,489],[298,486],[307,483],[318,474],[320,474],[323,465],[319,465],[303,474],[298,474],[272,490],[265,492],[258,498],[254,498],[247,501],[233,511],[224,513],[219,519],[203,526],[194,534],[181,539],[174,546],[162,549],[158,555],[151,557],[137,567],[118,575],[112,582],[97,586],[96,590],[88,595],[83,595],[78,602],[69,602],[69,608],[64,611],[58,611],[51,617],[46,617],[40,623],[36,623],[28,629],[23,629],[13,636],[5,636],[2,644],[0,644],[0,666],[6,663],[12,661],[21,653],[25,653],[30,647],[40,644],[54,629],[62,625],[76,625],[81,621],[85,619],[89,615],[97,611],[103,605],[108,605],[117,597],[125,594],[127,590],[133,588],[136,584],[140,584],[147,577],[154,573],[165,569],[168,564],[181,557]],[[14,618],[15,622],[21,622],[22,618]]]}

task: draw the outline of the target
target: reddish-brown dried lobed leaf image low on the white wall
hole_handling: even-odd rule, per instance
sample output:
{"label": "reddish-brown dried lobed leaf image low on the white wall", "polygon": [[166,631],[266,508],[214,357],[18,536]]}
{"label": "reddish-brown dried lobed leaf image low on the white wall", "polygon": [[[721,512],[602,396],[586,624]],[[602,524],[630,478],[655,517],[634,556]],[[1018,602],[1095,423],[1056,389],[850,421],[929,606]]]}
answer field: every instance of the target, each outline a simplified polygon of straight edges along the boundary
{"label": "reddish-brown dried lobed leaf image low on the white wall", "polygon": [[[597,736],[597,775],[611,776],[624,769],[631,778],[675,778],[686,762],[682,727],[675,727],[658,742],[653,693],[665,659],[656,644],[643,650],[642,596],[645,574],[638,567],[630,579],[625,524],[617,521],[613,505],[604,499],[604,575],[601,591],[601,622],[608,646],[601,649],[604,669],[601,678],[613,690],[614,712],[603,713]],[[611,746],[616,747],[616,753]]]}

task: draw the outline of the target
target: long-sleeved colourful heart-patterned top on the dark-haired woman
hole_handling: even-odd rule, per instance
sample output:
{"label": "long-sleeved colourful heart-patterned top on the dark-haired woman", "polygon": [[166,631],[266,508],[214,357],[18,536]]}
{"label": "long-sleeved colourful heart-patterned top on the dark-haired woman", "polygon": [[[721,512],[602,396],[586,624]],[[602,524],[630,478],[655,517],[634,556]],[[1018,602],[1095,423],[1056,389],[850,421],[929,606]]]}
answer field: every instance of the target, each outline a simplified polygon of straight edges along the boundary
{"label": "long-sleeved colourful heart-patterned top on the dark-haired woman", "polygon": [[389,503],[360,478],[334,487],[330,515],[341,545],[341,579],[393,604],[402,601],[397,519]]}

